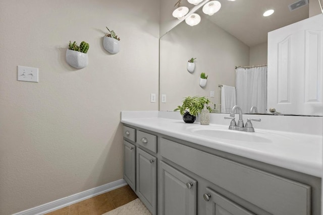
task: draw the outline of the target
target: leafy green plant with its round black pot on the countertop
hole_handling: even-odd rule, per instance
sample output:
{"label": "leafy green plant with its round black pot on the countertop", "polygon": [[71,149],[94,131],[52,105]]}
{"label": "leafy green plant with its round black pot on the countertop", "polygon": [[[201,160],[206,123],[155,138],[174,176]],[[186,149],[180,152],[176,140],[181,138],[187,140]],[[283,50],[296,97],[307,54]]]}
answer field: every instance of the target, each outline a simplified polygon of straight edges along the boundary
{"label": "leafy green plant with its round black pot on the countertop", "polygon": [[[211,103],[205,97],[193,96],[185,97],[182,106],[178,106],[174,111],[180,111],[183,116],[183,120],[186,123],[193,123],[198,113],[201,113],[204,105]],[[212,108],[207,106],[207,109],[211,112]]]}

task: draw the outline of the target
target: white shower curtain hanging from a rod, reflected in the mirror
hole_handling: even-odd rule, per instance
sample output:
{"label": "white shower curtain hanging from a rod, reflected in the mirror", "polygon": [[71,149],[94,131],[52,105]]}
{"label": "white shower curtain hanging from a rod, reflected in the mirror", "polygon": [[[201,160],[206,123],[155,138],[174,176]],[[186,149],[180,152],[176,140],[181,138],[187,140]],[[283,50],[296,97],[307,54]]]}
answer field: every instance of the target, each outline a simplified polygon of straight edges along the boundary
{"label": "white shower curtain hanging from a rod, reflected in the mirror", "polygon": [[236,98],[243,113],[249,113],[251,106],[266,113],[267,66],[236,68]]}

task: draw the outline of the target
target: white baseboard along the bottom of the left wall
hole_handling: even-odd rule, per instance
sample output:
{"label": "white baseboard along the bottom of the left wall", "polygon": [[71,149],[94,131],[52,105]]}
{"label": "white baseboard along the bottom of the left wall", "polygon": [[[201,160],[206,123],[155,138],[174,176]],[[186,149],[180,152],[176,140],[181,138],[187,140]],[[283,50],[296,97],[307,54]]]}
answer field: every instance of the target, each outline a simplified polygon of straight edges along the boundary
{"label": "white baseboard along the bottom of the left wall", "polygon": [[76,202],[91,198],[93,196],[108,192],[110,190],[117,189],[125,185],[127,185],[127,182],[124,179],[120,179],[118,181],[114,181],[98,187],[94,187],[92,189],[85,190],[83,192],[76,193],[74,195],[70,195],[55,201],[51,201],[51,202],[39,205],[37,207],[33,207],[30,209],[15,213],[13,215],[42,215],[44,213],[48,213],[48,212],[66,207]]}

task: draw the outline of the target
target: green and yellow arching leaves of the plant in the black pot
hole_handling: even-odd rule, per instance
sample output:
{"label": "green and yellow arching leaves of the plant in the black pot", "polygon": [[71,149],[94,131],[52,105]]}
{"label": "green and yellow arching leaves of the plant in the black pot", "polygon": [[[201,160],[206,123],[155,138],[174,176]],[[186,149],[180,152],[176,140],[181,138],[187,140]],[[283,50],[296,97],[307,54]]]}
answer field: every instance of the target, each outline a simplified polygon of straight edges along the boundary
{"label": "green and yellow arching leaves of the plant in the black pot", "polygon": [[[184,98],[182,106],[178,106],[174,111],[179,110],[181,115],[184,115],[185,111],[188,111],[191,115],[196,116],[202,111],[203,104],[205,103],[209,104],[211,102],[205,97],[188,96]],[[209,112],[212,111],[212,108],[209,106],[207,106],[207,109],[209,110]]]}

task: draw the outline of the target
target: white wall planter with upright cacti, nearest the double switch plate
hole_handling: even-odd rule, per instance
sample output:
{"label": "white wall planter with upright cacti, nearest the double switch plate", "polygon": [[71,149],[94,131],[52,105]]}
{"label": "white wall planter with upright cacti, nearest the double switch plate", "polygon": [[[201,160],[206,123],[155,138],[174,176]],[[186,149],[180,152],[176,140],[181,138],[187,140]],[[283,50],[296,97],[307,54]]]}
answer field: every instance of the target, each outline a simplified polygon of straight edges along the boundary
{"label": "white wall planter with upright cacti, nearest the double switch plate", "polygon": [[66,50],[66,61],[69,65],[75,68],[84,68],[87,66],[89,60],[87,51],[89,50],[89,44],[82,41],[80,46],[74,41],[70,41],[69,48]]}

